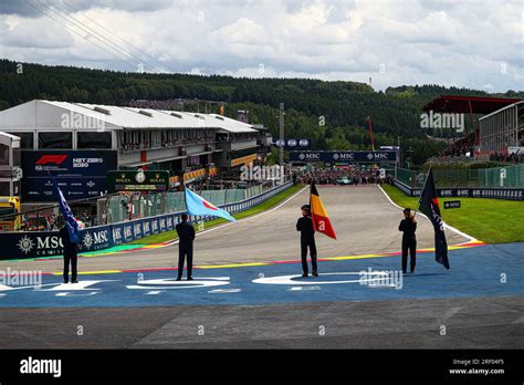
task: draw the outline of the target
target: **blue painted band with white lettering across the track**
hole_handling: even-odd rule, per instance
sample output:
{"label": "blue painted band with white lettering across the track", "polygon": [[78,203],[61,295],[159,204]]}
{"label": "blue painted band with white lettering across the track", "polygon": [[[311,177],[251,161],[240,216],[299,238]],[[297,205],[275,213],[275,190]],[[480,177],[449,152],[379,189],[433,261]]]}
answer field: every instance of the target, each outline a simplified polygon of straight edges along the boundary
{"label": "blue painted band with white lettering across the track", "polygon": [[300,263],[196,269],[191,282],[185,278],[176,282],[174,270],[83,274],[78,284],[44,275],[40,287],[1,282],[0,308],[254,305],[524,294],[524,243],[459,249],[449,256],[449,271],[427,252],[418,256],[416,273],[402,277],[399,256],[319,262],[321,275],[306,279]]}

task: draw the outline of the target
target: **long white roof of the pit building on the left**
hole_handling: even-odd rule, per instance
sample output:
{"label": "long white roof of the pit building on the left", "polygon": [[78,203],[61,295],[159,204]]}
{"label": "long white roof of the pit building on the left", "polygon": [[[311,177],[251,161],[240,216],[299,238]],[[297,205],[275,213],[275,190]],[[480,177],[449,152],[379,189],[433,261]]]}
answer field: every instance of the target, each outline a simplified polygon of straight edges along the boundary
{"label": "long white roof of the pit building on the left", "polygon": [[[80,122],[80,125],[76,122]],[[109,129],[214,128],[227,133],[256,132],[251,124],[216,114],[195,114],[103,104],[34,100],[0,111],[0,131],[88,129],[99,128],[99,124]]]}

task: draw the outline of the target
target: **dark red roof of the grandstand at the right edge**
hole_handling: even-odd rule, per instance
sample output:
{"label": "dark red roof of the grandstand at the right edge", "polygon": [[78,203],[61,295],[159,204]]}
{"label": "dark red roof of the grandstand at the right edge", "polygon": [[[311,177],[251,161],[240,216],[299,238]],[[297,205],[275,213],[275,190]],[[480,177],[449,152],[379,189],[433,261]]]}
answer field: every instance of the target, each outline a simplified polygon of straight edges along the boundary
{"label": "dark red roof of the grandstand at the right edge", "polygon": [[521,98],[506,97],[441,95],[426,104],[422,107],[422,111],[459,114],[472,113],[484,115],[491,114],[492,112],[521,101]]}

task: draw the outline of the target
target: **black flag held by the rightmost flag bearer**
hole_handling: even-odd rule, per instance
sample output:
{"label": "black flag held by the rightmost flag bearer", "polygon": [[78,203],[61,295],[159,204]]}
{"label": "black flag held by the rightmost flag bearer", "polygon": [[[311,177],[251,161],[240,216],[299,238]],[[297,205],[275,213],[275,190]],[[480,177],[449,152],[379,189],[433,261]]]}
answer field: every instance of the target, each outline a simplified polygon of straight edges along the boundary
{"label": "black flag held by the rightmost flag bearer", "polygon": [[444,223],[440,215],[439,198],[434,187],[433,173],[428,173],[428,178],[420,197],[419,210],[422,211],[431,221],[434,229],[434,259],[449,270],[448,242],[446,241]]}

